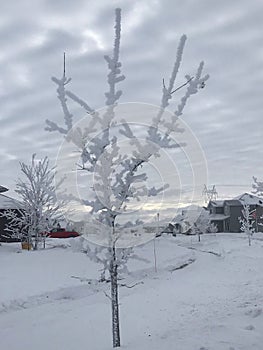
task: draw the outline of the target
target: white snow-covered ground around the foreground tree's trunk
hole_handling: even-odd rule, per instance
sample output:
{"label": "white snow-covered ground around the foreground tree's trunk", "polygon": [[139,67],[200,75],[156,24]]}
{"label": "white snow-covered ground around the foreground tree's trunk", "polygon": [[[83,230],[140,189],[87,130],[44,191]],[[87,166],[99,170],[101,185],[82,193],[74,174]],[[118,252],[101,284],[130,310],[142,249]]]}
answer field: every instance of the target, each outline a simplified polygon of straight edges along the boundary
{"label": "white snow-covered ground around the foreground tree's trunk", "polygon": [[[262,350],[263,234],[156,239],[136,248],[120,287],[125,350]],[[100,266],[50,240],[0,246],[1,350],[109,350],[111,310]],[[184,267],[184,265],[187,265]]]}

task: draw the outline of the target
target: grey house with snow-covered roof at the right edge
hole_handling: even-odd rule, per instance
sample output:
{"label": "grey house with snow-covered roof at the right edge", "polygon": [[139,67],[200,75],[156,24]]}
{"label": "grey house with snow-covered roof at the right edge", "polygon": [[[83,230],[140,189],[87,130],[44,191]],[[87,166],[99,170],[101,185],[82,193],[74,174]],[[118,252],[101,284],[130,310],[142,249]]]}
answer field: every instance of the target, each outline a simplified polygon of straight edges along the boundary
{"label": "grey house with snow-covered roof at the right edge", "polygon": [[215,200],[208,203],[210,220],[217,226],[218,232],[241,232],[239,217],[242,217],[243,204],[253,211],[254,228],[263,232],[263,199],[244,193],[233,199]]}

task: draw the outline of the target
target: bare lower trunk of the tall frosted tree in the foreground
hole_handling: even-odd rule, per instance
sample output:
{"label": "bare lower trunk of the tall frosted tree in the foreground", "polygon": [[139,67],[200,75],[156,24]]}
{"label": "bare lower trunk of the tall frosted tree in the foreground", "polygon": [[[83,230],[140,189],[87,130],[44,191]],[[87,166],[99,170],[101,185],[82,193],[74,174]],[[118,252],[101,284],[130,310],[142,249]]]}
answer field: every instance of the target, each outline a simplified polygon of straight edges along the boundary
{"label": "bare lower trunk of the tall frosted tree in the foreground", "polygon": [[112,248],[110,263],[111,278],[111,312],[112,312],[112,340],[113,347],[120,347],[120,320],[119,320],[119,296],[118,296],[118,265],[116,262],[115,247]]}

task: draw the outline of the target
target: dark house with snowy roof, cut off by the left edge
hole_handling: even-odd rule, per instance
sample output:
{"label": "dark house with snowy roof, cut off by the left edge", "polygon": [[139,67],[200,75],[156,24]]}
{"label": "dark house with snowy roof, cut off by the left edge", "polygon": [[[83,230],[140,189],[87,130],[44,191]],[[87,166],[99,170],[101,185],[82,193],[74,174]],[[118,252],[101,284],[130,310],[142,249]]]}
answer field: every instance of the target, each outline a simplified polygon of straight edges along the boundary
{"label": "dark house with snowy roof, cut off by the left edge", "polygon": [[[5,210],[11,209],[17,211],[17,201],[11,197],[4,195],[3,193],[8,191],[7,188],[0,186],[0,213],[2,214]],[[0,216],[0,242],[17,241],[10,237],[10,234],[5,230],[7,219]]]}

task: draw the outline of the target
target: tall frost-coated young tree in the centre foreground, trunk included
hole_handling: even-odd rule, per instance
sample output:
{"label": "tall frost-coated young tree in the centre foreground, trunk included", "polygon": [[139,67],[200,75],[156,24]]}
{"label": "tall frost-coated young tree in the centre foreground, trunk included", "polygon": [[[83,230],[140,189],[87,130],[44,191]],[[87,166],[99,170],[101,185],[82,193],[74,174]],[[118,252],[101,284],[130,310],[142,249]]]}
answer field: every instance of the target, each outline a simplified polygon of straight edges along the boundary
{"label": "tall frost-coated young tree in the centre foreground, trunk included", "polygon": [[[180,147],[171,138],[173,133],[179,131],[178,117],[182,115],[189,98],[196,94],[199,88],[203,88],[208,79],[208,75],[202,76],[204,63],[201,62],[194,76],[186,75],[186,82],[175,87],[186,42],[186,36],[183,35],[177,48],[176,60],[168,86],[163,81],[158,113],[152,116],[144,138],[142,139],[141,136],[139,138],[124,118],[122,118],[121,123],[116,121],[116,108],[122,95],[122,91],[117,89],[117,86],[125,79],[121,73],[122,64],[119,60],[120,38],[121,10],[116,9],[113,55],[111,57],[104,56],[109,69],[107,79],[109,89],[105,93],[106,111],[103,113],[95,111],[83,99],[66,88],[71,79],[66,77],[64,65],[62,78],[53,77],[52,80],[57,85],[65,126],[60,126],[50,120],[46,121],[48,131],[59,132],[64,135],[67,142],[71,142],[77,147],[80,152],[81,170],[92,174],[92,186],[87,186],[91,187],[93,198],[85,199],[82,203],[87,206],[92,216],[96,216],[97,220],[106,228],[107,242],[103,256],[103,247],[97,247],[94,250],[88,249],[87,252],[90,258],[102,263],[103,271],[108,271],[110,276],[113,347],[120,346],[118,274],[130,255],[129,251],[118,246],[121,236],[128,228],[123,226],[121,229],[121,226],[117,225],[117,220],[119,217],[123,217],[131,200],[153,197],[167,188],[167,185],[159,188],[147,188],[147,174],[143,171],[143,167],[152,157],[158,157],[162,148]],[[169,106],[173,94],[183,88],[186,89],[184,96],[179,101],[172,117],[169,120],[166,119],[164,112]],[[69,108],[68,100],[70,103],[81,106],[89,117],[84,128],[74,127],[73,114]],[[161,126],[165,129],[164,133],[160,131]],[[123,139],[130,144],[132,149],[130,155],[125,154],[125,151],[122,150],[121,141]]]}

